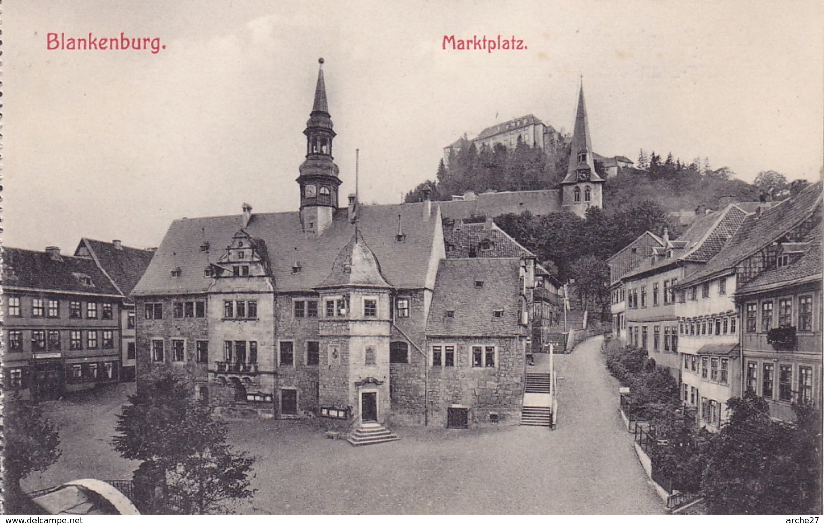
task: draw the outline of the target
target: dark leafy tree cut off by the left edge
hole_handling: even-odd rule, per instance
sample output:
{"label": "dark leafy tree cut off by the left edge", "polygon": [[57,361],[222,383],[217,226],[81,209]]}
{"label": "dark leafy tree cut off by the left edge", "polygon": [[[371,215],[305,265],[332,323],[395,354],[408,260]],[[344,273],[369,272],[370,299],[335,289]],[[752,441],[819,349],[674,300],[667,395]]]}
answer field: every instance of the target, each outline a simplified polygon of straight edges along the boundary
{"label": "dark leafy tree cut off by the left edge", "polygon": [[12,514],[30,513],[20,481],[32,472],[44,471],[60,458],[60,438],[40,405],[22,399],[20,393],[4,397],[2,479],[6,510]]}

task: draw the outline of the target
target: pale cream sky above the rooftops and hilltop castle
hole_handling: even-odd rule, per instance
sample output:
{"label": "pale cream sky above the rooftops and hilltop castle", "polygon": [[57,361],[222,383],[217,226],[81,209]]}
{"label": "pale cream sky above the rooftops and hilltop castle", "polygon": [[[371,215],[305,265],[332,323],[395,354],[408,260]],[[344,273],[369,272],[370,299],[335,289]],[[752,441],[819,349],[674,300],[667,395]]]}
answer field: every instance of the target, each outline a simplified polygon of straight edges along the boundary
{"label": "pale cream sky above the rooftops and hilltop castle", "polygon": [[[524,114],[592,143],[818,179],[822,2],[110,2],[3,9],[3,234],[160,244],[180,217],[293,211],[325,58],[335,162],[363,202],[400,202],[442,148]],[[47,34],[160,38],[158,53],[47,49]],[[523,39],[521,51],[443,37]],[[449,46],[451,48],[451,46]],[[11,99],[11,102],[10,102]],[[609,198],[608,195],[605,198]],[[342,204],[344,204],[344,199]]]}

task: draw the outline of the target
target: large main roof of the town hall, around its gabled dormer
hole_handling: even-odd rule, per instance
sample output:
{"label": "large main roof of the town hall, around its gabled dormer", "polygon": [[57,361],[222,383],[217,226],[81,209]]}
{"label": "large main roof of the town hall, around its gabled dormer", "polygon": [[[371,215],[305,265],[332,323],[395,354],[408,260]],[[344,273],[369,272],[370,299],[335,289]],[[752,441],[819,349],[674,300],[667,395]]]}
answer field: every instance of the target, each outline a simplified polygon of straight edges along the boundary
{"label": "large main roof of the town hall, around its gabled dormer", "polygon": [[[244,230],[265,242],[276,290],[310,291],[325,280],[340,250],[352,239],[354,225],[347,215],[345,209],[335,211],[332,224],[318,238],[303,234],[298,211],[254,214]],[[396,242],[398,215],[404,242]],[[428,221],[424,221],[422,202],[361,204],[358,221],[364,241],[391,284],[400,289],[427,285],[435,231],[441,228],[438,207],[433,205]],[[210,262],[218,262],[241,225],[241,215],[172,222],[133,295],[205,292],[212,279],[204,277],[204,268]],[[209,248],[202,251],[200,247],[205,243]],[[293,273],[295,262],[300,262],[300,272]],[[176,267],[181,269],[180,276],[172,277],[171,270]]]}

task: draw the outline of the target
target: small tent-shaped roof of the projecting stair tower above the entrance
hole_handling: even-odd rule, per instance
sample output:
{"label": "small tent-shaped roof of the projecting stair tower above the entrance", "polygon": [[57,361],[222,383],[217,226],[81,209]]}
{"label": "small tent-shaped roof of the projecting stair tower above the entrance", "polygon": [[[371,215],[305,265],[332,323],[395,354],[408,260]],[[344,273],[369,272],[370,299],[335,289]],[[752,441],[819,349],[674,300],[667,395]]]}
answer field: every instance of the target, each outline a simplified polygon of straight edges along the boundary
{"label": "small tent-shaped roof of the projecting stair tower above the entrance", "polygon": [[329,275],[317,287],[341,286],[392,287],[381,272],[381,263],[358,233],[349,239],[349,244],[346,244],[344,249],[340,250]]}

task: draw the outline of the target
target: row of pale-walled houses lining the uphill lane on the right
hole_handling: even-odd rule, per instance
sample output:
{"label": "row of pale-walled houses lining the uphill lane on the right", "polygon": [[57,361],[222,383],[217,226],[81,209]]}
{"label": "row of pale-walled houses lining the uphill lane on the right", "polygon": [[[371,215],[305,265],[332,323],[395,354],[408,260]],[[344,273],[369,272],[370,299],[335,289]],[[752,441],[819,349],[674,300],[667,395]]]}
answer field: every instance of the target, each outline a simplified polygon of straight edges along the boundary
{"label": "row of pale-walled houses lining the uphill lane on the right", "polygon": [[645,232],[608,260],[612,335],[681,384],[700,426],[750,390],[771,416],[822,407],[822,184]]}

